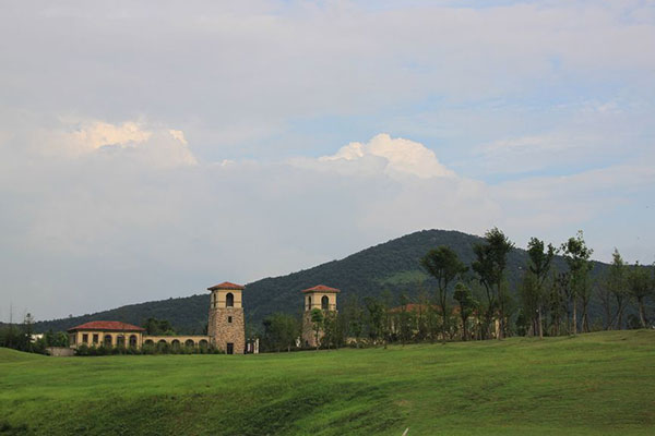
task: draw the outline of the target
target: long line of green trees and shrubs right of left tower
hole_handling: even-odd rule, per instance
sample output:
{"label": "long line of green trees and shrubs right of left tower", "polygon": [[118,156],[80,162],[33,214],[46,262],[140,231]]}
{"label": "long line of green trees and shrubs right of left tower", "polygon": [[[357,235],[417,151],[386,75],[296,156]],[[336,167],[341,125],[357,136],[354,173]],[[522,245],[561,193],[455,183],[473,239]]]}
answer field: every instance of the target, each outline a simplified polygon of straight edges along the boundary
{"label": "long line of green trees and shrubs right of left tower", "polygon": [[[655,267],[628,266],[615,252],[603,275],[592,277],[593,251],[579,232],[559,247],[532,238],[517,289],[507,278],[508,256],[514,244],[493,228],[473,246],[466,265],[450,246],[429,250],[420,258],[432,278],[432,289],[418,298],[389,291],[359,299],[349,294],[338,312],[313,310],[312,329],[323,348],[345,344],[471,340],[513,335],[557,336],[591,331],[590,302],[597,293],[605,310],[605,328],[647,327],[646,300],[655,294]],[[564,262],[557,265],[560,254]],[[512,292],[513,291],[513,292]],[[517,295],[514,298],[513,295]],[[639,317],[624,324],[628,305]],[[264,320],[263,351],[299,347],[298,316],[275,314]]]}

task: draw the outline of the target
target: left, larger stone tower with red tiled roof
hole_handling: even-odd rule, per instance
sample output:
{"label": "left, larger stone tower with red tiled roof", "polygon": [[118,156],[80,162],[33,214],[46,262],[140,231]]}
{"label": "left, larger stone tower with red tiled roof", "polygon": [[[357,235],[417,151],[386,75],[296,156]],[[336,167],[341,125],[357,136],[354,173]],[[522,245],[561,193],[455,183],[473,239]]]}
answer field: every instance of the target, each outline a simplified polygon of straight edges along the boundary
{"label": "left, larger stone tower with red tiled roof", "polygon": [[210,322],[207,335],[212,343],[227,354],[243,354],[246,350],[246,327],[241,305],[240,284],[225,281],[207,288],[210,300]]}

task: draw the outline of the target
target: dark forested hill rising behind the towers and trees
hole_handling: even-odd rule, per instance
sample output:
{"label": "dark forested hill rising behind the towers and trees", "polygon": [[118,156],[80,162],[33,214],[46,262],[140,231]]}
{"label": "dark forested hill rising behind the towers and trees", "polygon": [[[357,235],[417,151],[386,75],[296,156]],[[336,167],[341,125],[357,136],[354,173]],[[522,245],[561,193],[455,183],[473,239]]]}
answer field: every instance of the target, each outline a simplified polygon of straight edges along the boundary
{"label": "dark forested hill rising behind the towers and trees", "polygon": [[[416,296],[421,287],[433,289],[431,283],[426,281],[427,276],[419,267],[419,258],[428,250],[448,245],[465,264],[471,265],[474,261],[473,245],[478,242],[481,242],[481,238],[458,231],[422,230],[366,249],[341,261],[329,262],[287,276],[254,281],[249,283],[243,292],[247,322],[251,328],[259,328],[261,320],[271,313],[299,313],[302,308],[300,291],[319,283],[341,289],[342,302],[350,294],[364,298],[380,295],[384,290],[396,296],[401,292]],[[524,250],[515,249],[510,253],[508,279],[512,290],[515,289],[521,268],[526,263],[527,253]],[[559,269],[565,269],[563,258],[558,257],[555,264]],[[598,275],[606,267],[606,264],[595,263],[593,274]],[[66,330],[98,319],[141,324],[153,316],[170,320],[179,332],[200,334],[207,322],[209,304],[207,292],[202,295],[131,304],[91,315],[39,322],[35,328],[37,331]],[[594,302],[592,313],[597,313],[597,304]]]}

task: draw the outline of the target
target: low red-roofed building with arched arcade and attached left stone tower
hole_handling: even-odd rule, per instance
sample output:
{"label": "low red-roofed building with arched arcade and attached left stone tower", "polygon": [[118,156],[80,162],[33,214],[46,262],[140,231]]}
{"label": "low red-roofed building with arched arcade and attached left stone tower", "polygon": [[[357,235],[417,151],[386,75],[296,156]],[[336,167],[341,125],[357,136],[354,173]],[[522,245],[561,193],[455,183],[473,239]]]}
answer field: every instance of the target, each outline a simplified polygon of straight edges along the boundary
{"label": "low red-roofed building with arched arcade and attached left stone tower", "polygon": [[[200,347],[210,344],[227,354],[243,354],[246,351],[246,326],[241,292],[245,287],[225,281],[209,288],[212,291],[207,335],[151,336],[145,329],[118,320],[94,320],[70,328],[69,348],[126,347],[168,344],[171,348]],[[253,348],[259,351],[259,347]]]}

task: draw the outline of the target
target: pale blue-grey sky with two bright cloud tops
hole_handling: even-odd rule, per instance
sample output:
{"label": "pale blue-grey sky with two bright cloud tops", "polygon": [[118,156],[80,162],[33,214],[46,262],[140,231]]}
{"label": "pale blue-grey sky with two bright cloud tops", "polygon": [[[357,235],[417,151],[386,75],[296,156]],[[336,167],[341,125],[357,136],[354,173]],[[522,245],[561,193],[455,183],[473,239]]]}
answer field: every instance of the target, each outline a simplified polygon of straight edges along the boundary
{"label": "pale blue-grey sky with two bright cloud tops", "polygon": [[655,261],[652,0],[1,2],[0,59],[0,320],[422,229]]}

